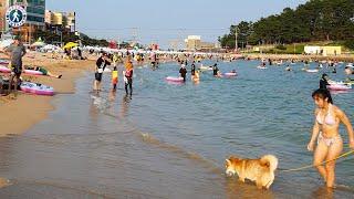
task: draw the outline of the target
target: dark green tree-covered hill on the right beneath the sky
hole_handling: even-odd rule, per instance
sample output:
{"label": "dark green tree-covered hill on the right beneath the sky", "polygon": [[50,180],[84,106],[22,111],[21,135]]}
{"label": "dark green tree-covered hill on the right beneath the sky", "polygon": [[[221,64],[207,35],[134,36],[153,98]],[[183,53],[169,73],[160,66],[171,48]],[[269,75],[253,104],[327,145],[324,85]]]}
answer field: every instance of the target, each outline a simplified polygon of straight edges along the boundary
{"label": "dark green tree-covered hill on the right beneath the sky", "polygon": [[236,29],[238,46],[342,41],[354,49],[354,0],[310,0],[257,22],[241,21],[230,27],[229,34],[219,36],[221,46],[235,49]]}

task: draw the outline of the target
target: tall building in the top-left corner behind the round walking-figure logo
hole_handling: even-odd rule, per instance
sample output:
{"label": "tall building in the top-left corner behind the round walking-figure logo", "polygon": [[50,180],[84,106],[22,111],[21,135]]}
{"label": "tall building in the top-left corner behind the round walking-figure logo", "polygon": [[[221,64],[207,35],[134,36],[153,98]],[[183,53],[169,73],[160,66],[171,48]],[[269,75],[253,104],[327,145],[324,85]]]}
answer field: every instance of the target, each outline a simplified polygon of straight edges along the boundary
{"label": "tall building in the top-left corner behind the round walking-figure logo", "polygon": [[[27,22],[21,28],[10,28],[6,21],[6,12],[11,6],[22,6],[27,10]],[[0,0],[0,23],[1,32],[11,31],[20,33],[24,42],[31,43],[35,30],[44,30],[45,0]]]}

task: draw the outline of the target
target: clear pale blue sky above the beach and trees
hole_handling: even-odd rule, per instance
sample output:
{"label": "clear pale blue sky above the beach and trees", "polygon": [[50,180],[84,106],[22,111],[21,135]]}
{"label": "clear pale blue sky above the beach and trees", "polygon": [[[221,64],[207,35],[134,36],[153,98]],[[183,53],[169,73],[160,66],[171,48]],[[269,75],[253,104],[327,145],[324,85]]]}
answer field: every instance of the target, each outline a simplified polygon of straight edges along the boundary
{"label": "clear pale blue sky above the beach and trees", "polygon": [[46,0],[52,11],[75,11],[76,30],[92,38],[158,43],[169,48],[187,35],[217,42],[231,24],[257,21],[306,0]]}

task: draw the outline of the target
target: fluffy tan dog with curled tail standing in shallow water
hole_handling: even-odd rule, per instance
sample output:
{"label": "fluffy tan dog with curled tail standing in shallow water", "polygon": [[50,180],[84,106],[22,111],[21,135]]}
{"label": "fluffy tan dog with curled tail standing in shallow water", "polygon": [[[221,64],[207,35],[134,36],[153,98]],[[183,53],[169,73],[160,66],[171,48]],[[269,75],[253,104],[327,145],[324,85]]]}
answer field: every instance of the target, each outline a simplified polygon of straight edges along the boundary
{"label": "fluffy tan dog with curled tail standing in shallow water", "polygon": [[266,155],[260,159],[241,159],[235,156],[226,159],[227,176],[237,174],[242,182],[244,179],[256,181],[259,189],[269,189],[274,181],[277,167],[278,158],[273,155]]}

